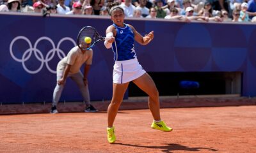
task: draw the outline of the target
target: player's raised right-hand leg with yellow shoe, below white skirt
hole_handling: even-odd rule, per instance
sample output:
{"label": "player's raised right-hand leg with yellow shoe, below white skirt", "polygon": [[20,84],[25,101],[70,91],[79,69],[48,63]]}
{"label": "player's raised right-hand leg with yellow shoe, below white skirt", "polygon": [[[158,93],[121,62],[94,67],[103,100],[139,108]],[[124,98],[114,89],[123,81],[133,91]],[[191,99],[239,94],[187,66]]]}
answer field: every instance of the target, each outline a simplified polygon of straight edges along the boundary
{"label": "player's raised right-hand leg with yellow shoe, below white skirt", "polygon": [[159,93],[157,91],[156,84],[152,78],[145,73],[141,77],[133,81],[142,91],[146,92],[149,96],[148,106],[154,118],[151,128],[159,129],[161,131],[172,131],[172,128],[169,128],[165,125],[163,120],[160,117],[160,108],[159,108]]}

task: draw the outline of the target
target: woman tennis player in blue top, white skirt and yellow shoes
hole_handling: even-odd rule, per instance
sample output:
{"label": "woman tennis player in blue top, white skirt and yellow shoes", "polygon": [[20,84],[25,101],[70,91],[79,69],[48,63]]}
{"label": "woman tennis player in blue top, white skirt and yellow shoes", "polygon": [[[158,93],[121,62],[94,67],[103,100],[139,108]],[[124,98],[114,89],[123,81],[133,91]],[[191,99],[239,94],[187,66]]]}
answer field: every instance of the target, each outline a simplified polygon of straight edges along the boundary
{"label": "woman tennis player in blue top, white skirt and yellow shoes", "polygon": [[112,48],[115,65],[113,69],[113,97],[108,106],[108,142],[115,143],[114,120],[118,108],[124,98],[129,82],[134,82],[149,96],[148,106],[154,118],[151,128],[161,131],[172,131],[160,117],[159,95],[152,78],[139,64],[134,50],[134,40],[141,45],[147,45],[154,38],[154,31],[141,36],[132,25],[124,23],[124,10],[118,3],[108,3],[109,15],[113,21],[106,29],[104,42],[106,48]]}

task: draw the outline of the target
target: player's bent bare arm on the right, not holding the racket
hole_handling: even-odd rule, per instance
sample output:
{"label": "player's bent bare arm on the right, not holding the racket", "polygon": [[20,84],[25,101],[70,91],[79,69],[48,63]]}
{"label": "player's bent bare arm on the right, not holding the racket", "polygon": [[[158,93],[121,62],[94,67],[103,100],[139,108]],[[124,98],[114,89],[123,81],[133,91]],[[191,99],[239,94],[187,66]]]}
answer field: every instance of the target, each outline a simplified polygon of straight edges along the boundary
{"label": "player's bent bare arm on the right, not holding the racket", "polygon": [[145,34],[145,36],[141,36],[141,34],[138,33],[138,31],[136,31],[136,29],[132,25],[129,25],[129,27],[131,27],[134,33],[134,40],[140,43],[141,45],[147,45],[154,38],[154,31]]}

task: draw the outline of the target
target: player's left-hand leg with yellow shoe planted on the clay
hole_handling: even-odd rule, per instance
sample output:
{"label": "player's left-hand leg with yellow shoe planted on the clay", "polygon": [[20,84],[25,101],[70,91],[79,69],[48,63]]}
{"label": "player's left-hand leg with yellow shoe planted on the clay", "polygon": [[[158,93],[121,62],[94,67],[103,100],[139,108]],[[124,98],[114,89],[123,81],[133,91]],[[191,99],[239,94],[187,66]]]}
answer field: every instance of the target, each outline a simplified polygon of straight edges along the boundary
{"label": "player's left-hand leg with yellow shoe planted on the clay", "polygon": [[113,97],[111,99],[111,103],[108,106],[108,142],[115,143],[116,136],[114,131],[113,123],[115,121],[116,114],[118,112],[118,108],[121,105],[124,93],[129,85],[129,82],[125,84],[115,84],[113,83]]}

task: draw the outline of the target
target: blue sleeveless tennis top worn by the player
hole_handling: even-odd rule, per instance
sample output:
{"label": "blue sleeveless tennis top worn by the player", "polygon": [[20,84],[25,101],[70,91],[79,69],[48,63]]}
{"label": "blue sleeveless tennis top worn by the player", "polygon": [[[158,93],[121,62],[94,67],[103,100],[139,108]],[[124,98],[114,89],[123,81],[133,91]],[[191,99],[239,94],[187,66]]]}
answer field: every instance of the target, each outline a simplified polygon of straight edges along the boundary
{"label": "blue sleeveless tennis top worn by the player", "polygon": [[127,24],[124,24],[124,27],[113,25],[116,28],[115,42],[112,43],[114,60],[125,61],[137,57],[134,49],[134,33],[131,27]]}

